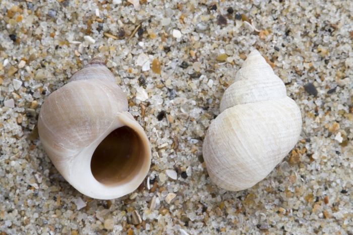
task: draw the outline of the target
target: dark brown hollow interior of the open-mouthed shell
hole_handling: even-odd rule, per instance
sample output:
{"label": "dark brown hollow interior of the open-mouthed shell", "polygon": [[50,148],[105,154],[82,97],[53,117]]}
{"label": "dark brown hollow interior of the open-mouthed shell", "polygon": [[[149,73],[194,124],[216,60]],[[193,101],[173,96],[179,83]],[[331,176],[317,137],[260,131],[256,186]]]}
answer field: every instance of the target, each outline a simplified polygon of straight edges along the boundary
{"label": "dark brown hollow interior of the open-mouthed shell", "polygon": [[93,177],[107,186],[131,181],[143,167],[144,151],[141,138],[132,128],[124,126],[113,130],[92,155]]}

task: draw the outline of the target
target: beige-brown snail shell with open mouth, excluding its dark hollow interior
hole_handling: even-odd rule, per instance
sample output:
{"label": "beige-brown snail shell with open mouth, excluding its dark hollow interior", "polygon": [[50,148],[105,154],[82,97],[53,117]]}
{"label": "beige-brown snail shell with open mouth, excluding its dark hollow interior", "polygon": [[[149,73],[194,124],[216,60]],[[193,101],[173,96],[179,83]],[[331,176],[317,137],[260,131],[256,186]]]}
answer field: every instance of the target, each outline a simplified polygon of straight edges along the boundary
{"label": "beige-brown snail shell with open mouth, excluding its dark hollow interior", "polygon": [[[133,129],[145,153],[130,176],[119,184],[98,182],[91,172],[92,154],[113,130]],[[92,198],[113,199],[133,192],[145,179],[151,149],[142,127],[128,112],[128,100],[99,58],[77,72],[43,103],[38,119],[42,145],[63,177]]]}

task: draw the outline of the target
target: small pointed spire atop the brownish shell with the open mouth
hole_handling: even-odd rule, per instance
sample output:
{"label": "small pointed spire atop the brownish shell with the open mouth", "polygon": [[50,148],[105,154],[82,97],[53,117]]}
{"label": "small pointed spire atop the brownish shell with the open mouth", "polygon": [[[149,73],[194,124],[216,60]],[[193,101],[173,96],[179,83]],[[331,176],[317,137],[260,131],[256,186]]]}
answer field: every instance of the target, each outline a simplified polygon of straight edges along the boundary
{"label": "small pointed spire atop the brownish shell with the open mouth", "polygon": [[68,82],[91,79],[108,80],[115,83],[115,77],[100,56],[94,57],[82,70],[76,72]]}

